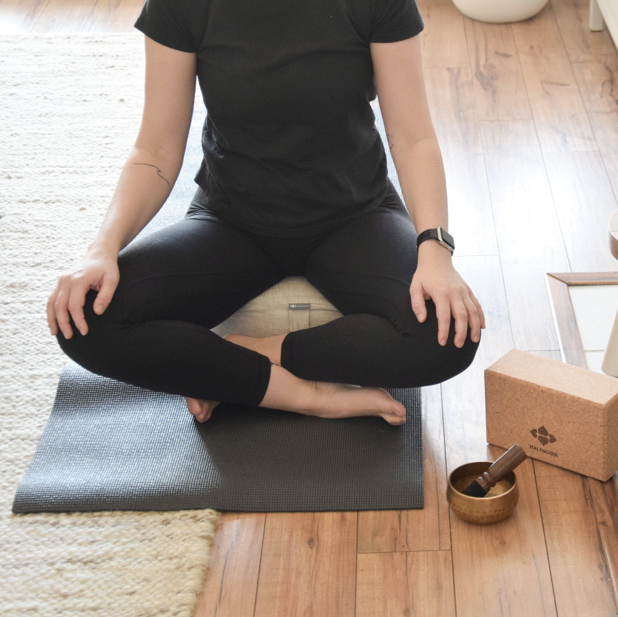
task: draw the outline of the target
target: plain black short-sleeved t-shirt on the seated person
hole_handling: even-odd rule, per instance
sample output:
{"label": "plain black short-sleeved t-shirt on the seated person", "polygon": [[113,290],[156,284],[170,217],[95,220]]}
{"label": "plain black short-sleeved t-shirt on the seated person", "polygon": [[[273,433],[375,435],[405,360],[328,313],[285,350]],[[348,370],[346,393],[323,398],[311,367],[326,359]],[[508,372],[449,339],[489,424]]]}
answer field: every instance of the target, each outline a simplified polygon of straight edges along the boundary
{"label": "plain black short-sleeved t-shirt on the seated person", "polygon": [[424,27],[416,0],[146,0],[135,22],[197,54],[203,205],[279,237],[327,230],[383,200],[369,43]]}

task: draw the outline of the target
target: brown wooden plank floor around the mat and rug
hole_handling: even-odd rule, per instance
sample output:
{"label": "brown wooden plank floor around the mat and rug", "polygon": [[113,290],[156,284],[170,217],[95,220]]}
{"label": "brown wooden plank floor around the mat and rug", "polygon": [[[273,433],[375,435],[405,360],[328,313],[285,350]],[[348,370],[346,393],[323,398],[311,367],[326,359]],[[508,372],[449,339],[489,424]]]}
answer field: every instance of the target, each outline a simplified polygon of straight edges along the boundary
{"label": "brown wooden plank floor around the mat and rug", "polygon": [[[142,2],[0,0],[0,31],[131,31]],[[450,515],[446,477],[504,450],[485,437],[483,370],[512,347],[560,359],[546,272],[616,271],[618,56],[583,0],[525,22],[419,2],[455,268],[487,328],[467,371],[423,389],[425,508],[225,513],[199,617],[617,615],[618,497],[531,459],[508,520]]]}

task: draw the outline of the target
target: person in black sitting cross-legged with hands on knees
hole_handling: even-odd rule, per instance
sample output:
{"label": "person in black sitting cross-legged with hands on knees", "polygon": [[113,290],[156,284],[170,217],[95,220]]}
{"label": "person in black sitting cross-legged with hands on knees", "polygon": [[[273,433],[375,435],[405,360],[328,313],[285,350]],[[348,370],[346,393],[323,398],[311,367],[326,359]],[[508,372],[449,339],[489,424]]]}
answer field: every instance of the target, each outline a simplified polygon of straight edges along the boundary
{"label": "person in black sitting cross-legged with hands on knees", "polygon": [[[146,0],[135,27],[142,126],[100,230],[49,297],[62,350],[184,396],[198,421],[225,401],[404,423],[384,388],[461,373],[485,328],[452,265],[415,0]],[[179,175],[196,75],[197,190],[182,220],[132,242]],[[343,317],[263,339],[211,331],[297,275]]]}

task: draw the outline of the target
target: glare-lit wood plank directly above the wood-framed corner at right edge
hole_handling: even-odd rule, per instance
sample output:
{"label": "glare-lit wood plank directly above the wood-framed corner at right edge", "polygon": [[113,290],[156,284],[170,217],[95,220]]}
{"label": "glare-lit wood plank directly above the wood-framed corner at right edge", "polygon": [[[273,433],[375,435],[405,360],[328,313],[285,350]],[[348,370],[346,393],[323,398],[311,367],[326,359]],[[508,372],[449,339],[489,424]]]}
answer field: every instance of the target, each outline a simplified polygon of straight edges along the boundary
{"label": "glare-lit wood plank directly above the wood-framed corner at right edge", "polygon": [[607,246],[607,223],[618,202],[601,154],[545,152],[543,159],[571,269],[618,270]]}

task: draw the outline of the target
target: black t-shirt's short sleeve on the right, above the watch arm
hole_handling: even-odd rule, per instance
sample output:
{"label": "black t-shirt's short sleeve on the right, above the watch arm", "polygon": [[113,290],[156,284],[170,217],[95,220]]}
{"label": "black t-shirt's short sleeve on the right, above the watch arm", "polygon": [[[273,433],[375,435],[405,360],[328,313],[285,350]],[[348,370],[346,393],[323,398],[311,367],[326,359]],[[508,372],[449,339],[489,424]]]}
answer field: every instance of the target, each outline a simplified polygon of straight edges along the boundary
{"label": "black t-shirt's short sleeve on the right, above the watch arm", "polygon": [[416,36],[425,22],[416,0],[374,0],[370,43],[394,43]]}

